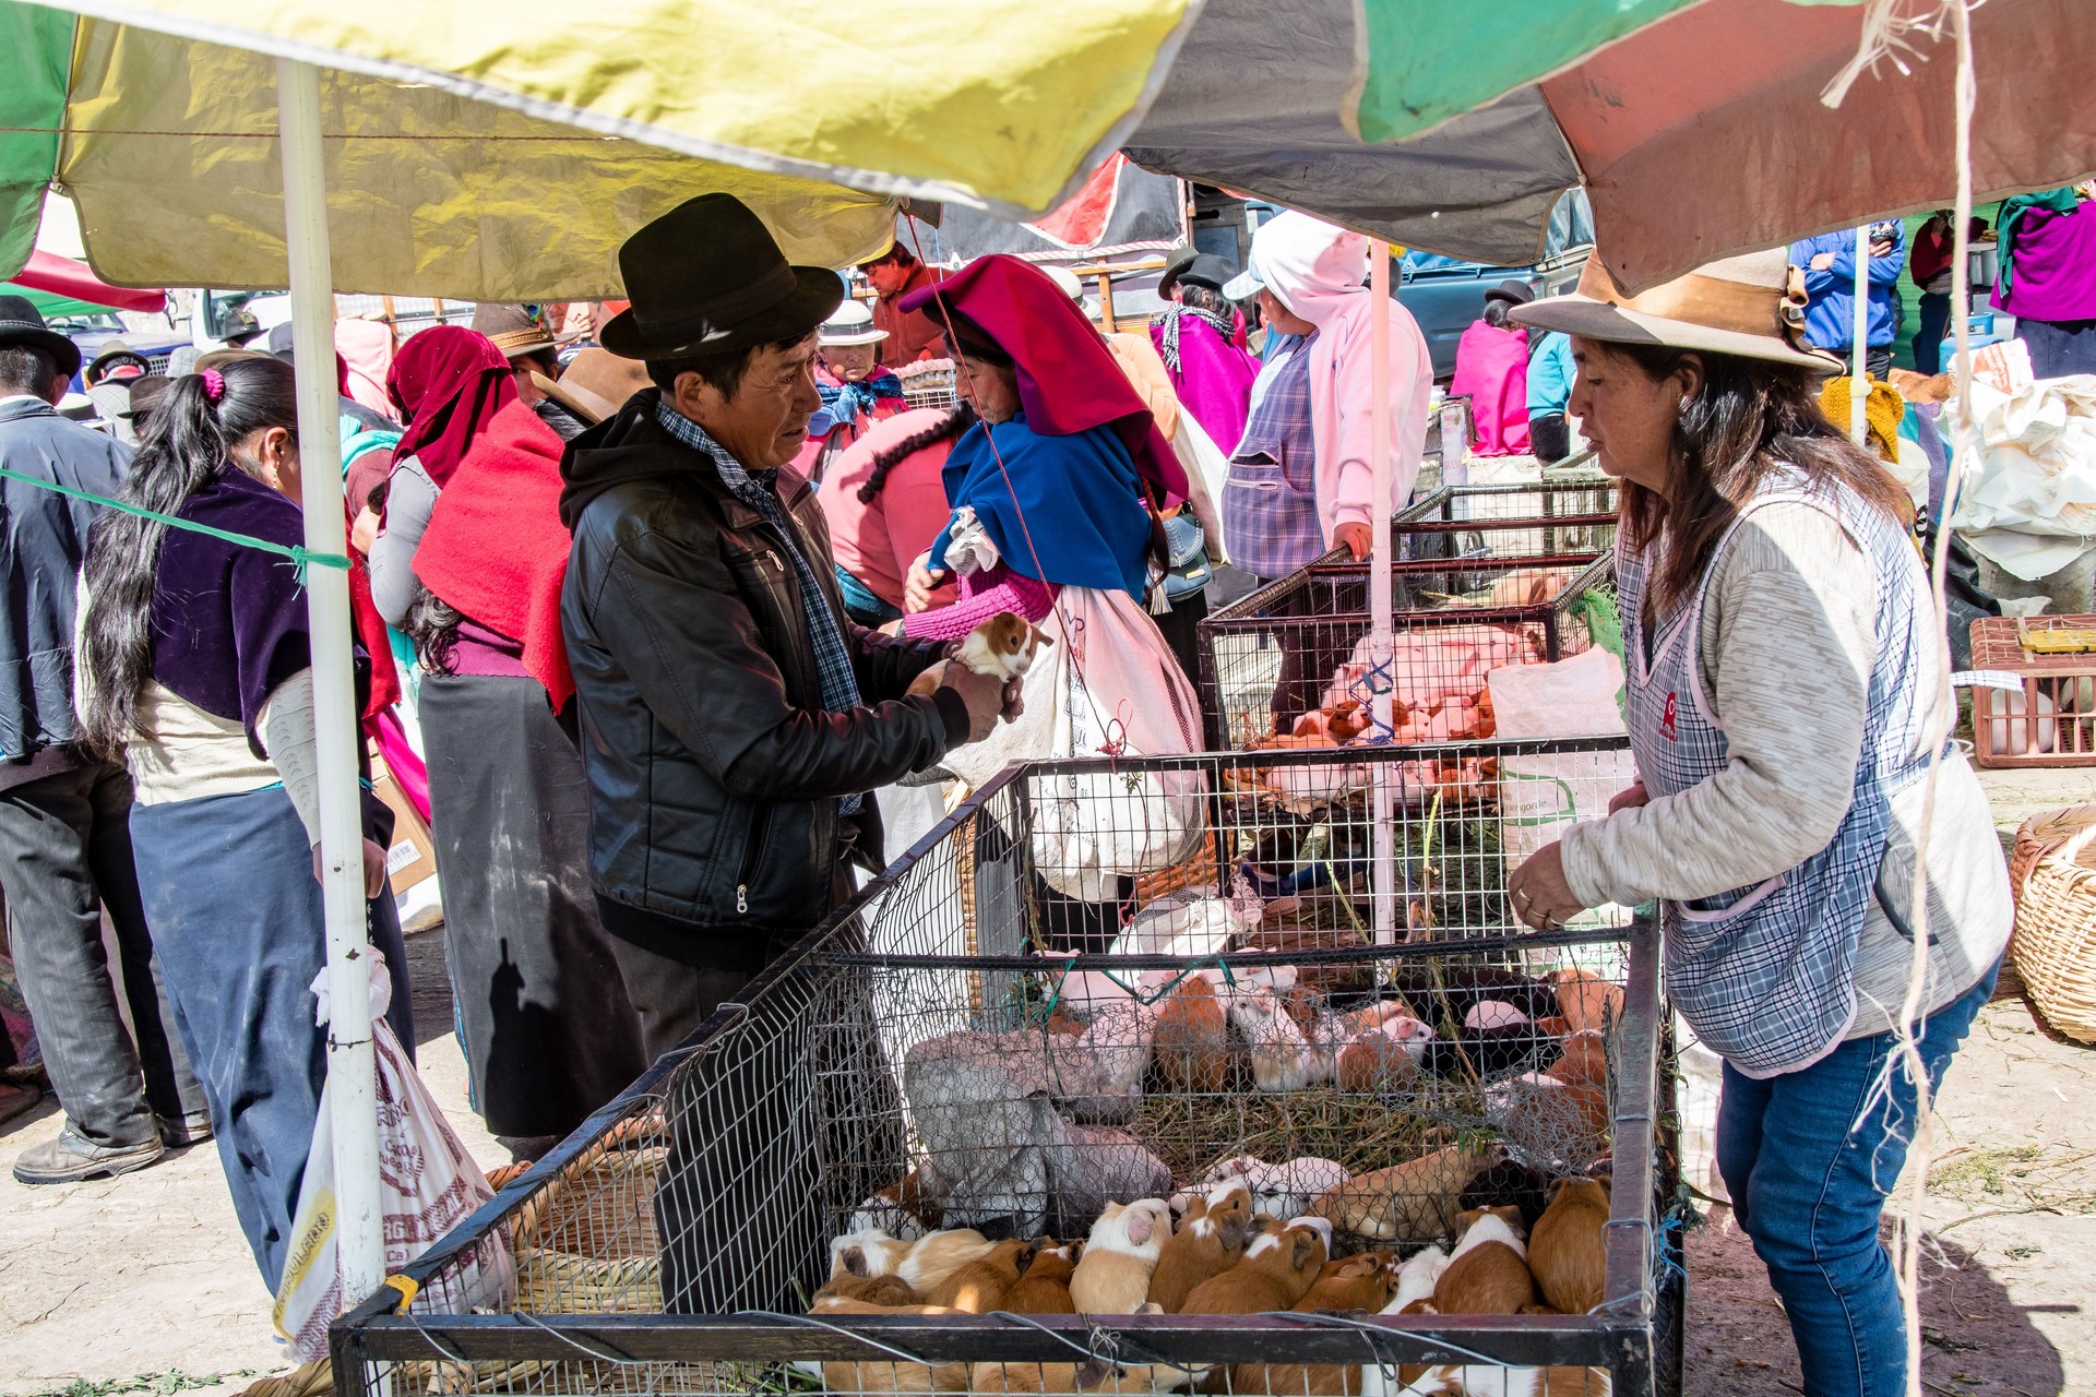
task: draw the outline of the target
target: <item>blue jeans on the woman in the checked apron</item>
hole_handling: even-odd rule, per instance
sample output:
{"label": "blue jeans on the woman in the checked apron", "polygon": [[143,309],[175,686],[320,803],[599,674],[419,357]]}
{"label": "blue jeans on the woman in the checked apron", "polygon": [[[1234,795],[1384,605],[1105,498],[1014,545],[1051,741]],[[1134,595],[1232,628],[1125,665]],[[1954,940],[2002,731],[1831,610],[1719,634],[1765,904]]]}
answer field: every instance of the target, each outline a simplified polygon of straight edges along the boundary
{"label": "blue jeans on the woman in the checked apron", "polygon": [[[1922,1024],[1930,1095],[1991,995],[1989,970]],[[1907,1391],[1899,1288],[1878,1215],[1907,1160],[1914,1083],[1895,1068],[1891,1091],[1872,1097],[1893,1051],[1893,1035],[1878,1033],[1767,1081],[1725,1064],[1717,1167],[1784,1299],[1809,1397]]]}

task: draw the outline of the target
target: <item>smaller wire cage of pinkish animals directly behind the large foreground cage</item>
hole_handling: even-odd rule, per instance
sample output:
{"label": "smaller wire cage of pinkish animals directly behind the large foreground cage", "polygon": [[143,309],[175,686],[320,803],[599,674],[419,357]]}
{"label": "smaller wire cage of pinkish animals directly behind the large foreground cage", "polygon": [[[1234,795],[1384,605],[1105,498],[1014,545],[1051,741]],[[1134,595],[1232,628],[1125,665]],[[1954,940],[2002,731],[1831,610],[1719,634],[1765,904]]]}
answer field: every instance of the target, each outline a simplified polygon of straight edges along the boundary
{"label": "smaller wire cage of pinkish animals directly behind the large foreground cage", "polygon": [[[1597,637],[1620,649],[1614,553],[1528,551],[1543,538],[1532,522],[1400,524],[1388,670],[1371,664],[1367,563],[1318,561],[1211,612],[1199,622],[1207,744],[1492,737],[1490,670],[1566,660]],[[1394,731],[1375,733],[1385,672]]]}

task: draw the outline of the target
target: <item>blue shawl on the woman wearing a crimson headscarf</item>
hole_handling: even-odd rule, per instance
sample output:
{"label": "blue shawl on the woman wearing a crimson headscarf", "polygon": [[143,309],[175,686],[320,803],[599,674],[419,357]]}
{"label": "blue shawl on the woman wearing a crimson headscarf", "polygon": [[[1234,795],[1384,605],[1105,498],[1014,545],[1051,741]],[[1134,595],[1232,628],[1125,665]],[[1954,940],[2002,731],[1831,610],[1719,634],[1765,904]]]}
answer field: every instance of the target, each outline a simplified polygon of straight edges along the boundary
{"label": "blue shawl on the woman wearing a crimson headscarf", "polygon": [[[1025,417],[996,427],[975,423],[945,459],[945,498],[954,509],[975,509],[1004,563],[1021,576],[1121,589],[1136,601],[1144,595],[1151,515],[1136,463],[1111,425],[1040,436]],[[937,566],[945,566],[952,530],[949,522],[931,545]]]}

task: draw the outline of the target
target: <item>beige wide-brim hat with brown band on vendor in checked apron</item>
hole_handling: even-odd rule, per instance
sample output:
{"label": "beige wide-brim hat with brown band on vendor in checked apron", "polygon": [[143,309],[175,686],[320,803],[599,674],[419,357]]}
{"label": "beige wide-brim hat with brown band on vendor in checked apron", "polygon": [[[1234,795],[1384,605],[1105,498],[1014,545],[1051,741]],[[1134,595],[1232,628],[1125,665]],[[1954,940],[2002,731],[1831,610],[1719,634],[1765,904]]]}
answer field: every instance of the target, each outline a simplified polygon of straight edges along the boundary
{"label": "beige wide-brim hat with brown band on vendor in checked apron", "polygon": [[1780,247],[1706,262],[1641,295],[1624,295],[1601,258],[1589,256],[1576,291],[1515,306],[1507,318],[1608,343],[1735,354],[1840,373],[1840,360],[1805,343],[1805,283]]}

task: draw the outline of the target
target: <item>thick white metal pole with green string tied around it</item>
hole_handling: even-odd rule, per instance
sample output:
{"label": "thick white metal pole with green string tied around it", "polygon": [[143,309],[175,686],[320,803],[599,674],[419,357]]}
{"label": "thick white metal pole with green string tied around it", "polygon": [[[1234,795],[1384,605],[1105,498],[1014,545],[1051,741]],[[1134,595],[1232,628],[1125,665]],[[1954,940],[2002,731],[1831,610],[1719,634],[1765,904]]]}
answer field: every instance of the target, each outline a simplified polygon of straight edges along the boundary
{"label": "thick white metal pole with green string tied around it", "polygon": [[[291,262],[291,348],[298,364],[298,461],[306,547],[348,553],[342,517],[342,440],[335,390],[335,281],[327,253],[327,168],[321,153],[321,71],[277,61],[283,142],[283,232]],[[312,723],[321,769],[321,901],[327,909],[327,1097],[335,1131],[335,1257],[342,1303],[358,1305],[386,1280],[379,1127],[371,1047],[371,947],[365,938],[365,838],[356,783],[356,679],[350,578],[306,570],[312,635]]]}

